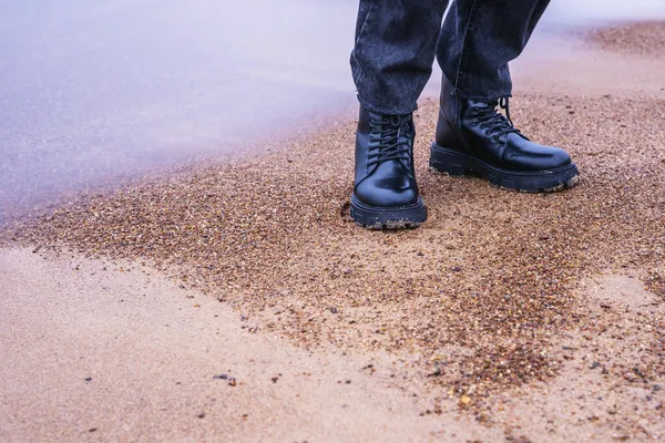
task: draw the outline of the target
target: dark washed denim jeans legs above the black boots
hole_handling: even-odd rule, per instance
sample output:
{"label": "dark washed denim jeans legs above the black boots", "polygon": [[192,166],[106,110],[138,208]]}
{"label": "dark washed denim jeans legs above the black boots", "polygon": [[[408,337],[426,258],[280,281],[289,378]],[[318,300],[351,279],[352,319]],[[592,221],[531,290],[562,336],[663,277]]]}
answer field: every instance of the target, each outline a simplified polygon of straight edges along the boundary
{"label": "dark washed denim jeans legs above the black boots", "polygon": [[529,41],[550,0],[360,0],[351,71],[370,111],[417,109],[434,54],[454,85],[473,100],[508,97],[508,62]]}

